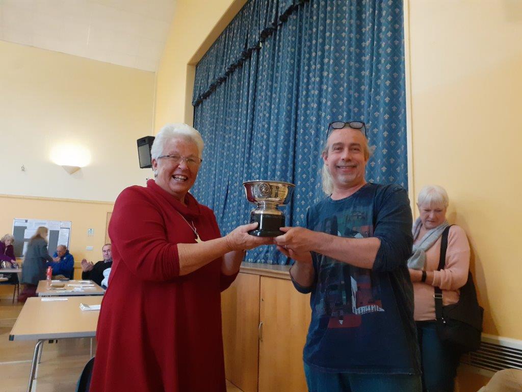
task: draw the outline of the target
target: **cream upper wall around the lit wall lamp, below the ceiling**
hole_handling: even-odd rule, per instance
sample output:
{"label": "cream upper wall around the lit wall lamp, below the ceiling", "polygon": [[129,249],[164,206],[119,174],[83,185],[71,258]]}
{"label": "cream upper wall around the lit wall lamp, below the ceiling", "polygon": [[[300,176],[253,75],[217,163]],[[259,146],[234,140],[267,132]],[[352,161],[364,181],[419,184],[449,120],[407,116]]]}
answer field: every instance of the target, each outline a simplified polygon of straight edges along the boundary
{"label": "cream upper wall around the lit wall lamp, below the ceiling", "polygon": [[[152,134],[154,73],[5,41],[0,59],[0,194],[112,202],[150,176],[136,140]],[[73,175],[52,162],[70,143],[91,155]]]}

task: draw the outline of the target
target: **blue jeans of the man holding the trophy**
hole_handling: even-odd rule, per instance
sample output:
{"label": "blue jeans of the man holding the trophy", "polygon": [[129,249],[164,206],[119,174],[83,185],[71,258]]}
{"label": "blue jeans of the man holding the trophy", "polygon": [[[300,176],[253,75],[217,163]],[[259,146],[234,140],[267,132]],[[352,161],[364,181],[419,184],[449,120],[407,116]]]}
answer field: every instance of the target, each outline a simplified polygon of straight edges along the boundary
{"label": "blue jeans of the man holding the trophy", "polygon": [[304,364],[310,392],[421,392],[420,375],[324,373]]}

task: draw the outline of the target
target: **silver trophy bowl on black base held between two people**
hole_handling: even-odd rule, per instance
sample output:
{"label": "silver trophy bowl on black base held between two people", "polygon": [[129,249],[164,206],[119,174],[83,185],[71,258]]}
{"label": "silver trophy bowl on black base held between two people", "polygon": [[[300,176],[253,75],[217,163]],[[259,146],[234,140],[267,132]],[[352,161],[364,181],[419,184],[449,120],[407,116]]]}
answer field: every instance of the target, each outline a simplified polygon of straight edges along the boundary
{"label": "silver trophy bowl on black base held between two people", "polygon": [[284,226],[284,214],[277,207],[288,204],[295,186],[290,182],[271,180],[246,181],[243,186],[246,200],[257,205],[250,213],[250,223],[259,224],[248,234],[258,237],[277,237],[283,234],[279,227]]}

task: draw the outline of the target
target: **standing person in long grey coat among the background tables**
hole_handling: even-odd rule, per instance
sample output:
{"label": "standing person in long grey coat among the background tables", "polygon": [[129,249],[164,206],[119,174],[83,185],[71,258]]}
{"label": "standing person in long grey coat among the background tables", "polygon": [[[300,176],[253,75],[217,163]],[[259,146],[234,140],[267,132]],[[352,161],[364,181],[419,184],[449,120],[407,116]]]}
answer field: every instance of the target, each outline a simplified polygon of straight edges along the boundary
{"label": "standing person in long grey coat among the background tables", "polygon": [[53,261],[47,251],[47,227],[40,226],[29,240],[26,257],[22,264],[22,284],[25,284],[18,296],[18,302],[26,302],[27,298],[36,296],[38,281],[45,279],[45,262]]}

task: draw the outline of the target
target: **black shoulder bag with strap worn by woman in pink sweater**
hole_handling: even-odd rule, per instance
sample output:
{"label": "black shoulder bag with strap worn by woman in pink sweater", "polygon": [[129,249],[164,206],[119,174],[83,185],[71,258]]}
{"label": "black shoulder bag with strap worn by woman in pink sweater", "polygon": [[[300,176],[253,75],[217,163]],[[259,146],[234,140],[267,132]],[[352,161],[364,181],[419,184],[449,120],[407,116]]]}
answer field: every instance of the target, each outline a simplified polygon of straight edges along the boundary
{"label": "black shoulder bag with strap worn by woman in pink sweater", "polygon": [[[442,233],[441,258],[438,261],[437,271],[442,270],[446,263],[450,227],[446,227]],[[462,354],[476,351],[480,346],[484,309],[477,301],[471,272],[468,272],[466,284],[460,287],[460,298],[456,304],[442,306],[442,290],[439,287],[435,287],[434,298],[438,338],[452,344]]]}

